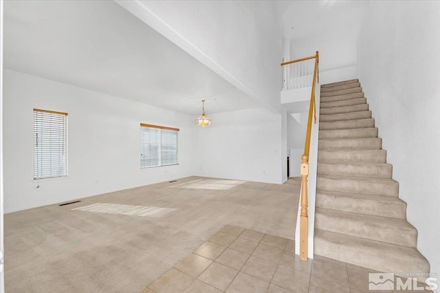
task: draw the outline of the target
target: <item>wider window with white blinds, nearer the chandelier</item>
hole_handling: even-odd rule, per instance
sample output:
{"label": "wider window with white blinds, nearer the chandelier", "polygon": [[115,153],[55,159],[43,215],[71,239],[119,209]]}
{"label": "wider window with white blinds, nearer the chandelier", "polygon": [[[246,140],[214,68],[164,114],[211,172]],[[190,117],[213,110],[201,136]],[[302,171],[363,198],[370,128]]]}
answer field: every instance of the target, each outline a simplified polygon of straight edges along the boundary
{"label": "wider window with white blinds, nearer the chandelier", "polygon": [[140,167],[177,164],[179,129],[140,124]]}

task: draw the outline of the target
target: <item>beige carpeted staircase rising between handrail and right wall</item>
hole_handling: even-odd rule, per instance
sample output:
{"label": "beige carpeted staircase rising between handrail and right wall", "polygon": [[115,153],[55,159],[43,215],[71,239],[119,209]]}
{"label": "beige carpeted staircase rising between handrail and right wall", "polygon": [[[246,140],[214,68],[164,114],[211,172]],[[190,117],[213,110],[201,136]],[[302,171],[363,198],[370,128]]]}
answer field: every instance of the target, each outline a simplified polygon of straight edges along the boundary
{"label": "beige carpeted staircase rising between handrail and right wall", "polygon": [[357,79],[321,86],[319,128],[314,253],[380,272],[429,272]]}

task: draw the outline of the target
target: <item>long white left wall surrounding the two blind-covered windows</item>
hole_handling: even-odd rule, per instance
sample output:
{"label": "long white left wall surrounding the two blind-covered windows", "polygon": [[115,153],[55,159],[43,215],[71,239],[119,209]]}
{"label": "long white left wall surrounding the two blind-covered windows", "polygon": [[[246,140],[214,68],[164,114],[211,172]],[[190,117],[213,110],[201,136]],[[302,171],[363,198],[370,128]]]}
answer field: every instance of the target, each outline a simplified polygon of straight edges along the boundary
{"label": "long white left wall surrounding the two blind-covered windows", "polygon": [[[192,175],[191,116],[9,69],[4,77],[5,212]],[[34,108],[69,113],[68,177],[32,180]],[[140,169],[140,122],[180,129],[179,165]]]}

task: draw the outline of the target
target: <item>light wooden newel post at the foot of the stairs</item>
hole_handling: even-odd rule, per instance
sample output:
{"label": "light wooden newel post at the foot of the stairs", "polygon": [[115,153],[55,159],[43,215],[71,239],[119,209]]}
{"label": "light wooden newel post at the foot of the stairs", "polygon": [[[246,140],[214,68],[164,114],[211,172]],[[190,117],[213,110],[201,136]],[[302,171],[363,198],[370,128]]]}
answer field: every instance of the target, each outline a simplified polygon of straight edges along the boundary
{"label": "light wooden newel post at the foot of the stairs", "polygon": [[309,156],[301,156],[301,214],[300,214],[300,259],[307,261],[309,215],[307,214],[307,177],[309,176]]}

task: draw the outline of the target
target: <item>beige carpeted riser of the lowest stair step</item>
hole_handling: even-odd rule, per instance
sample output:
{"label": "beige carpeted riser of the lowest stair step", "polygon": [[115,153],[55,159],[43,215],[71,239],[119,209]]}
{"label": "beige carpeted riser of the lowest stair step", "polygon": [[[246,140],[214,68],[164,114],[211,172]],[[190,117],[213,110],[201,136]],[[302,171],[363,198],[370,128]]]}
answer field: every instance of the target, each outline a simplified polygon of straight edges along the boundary
{"label": "beige carpeted riser of the lowest stair step", "polygon": [[[315,237],[314,253],[329,259],[336,259],[353,265],[360,265],[380,272],[429,272],[428,261],[423,257],[412,257],[401,254],[387,254],[380,250],[366,249],[364,246],[345,245],[327,239]],[[418,279],[422,281],[422,279]]]}

